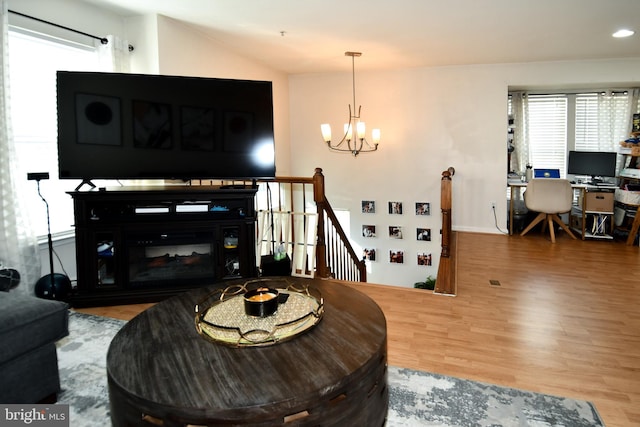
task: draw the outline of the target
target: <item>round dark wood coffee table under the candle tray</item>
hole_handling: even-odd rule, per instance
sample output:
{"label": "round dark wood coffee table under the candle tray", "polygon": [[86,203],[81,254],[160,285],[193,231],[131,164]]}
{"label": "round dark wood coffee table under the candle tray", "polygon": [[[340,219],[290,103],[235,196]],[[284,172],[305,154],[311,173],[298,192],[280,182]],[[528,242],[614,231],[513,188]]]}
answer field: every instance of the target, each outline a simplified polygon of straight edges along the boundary
{"label": "round dark wood coffee table under the candle tray", "polygon": [[389,397],[380,307],[334,281],[288,280],[320,290],[324,317],[275,345],[233,348],[200,336],[194,305],[215,287],[128,322],[107,355],[113,425],[383,426]]}

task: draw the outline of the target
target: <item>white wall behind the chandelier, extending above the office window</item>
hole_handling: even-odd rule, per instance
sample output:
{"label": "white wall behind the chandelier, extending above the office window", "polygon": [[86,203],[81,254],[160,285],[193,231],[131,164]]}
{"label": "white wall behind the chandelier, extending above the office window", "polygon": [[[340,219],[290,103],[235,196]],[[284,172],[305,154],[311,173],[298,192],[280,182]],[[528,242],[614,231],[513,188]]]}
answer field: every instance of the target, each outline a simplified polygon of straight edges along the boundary
{"label": "white wall behind the chandelier, extending above the office window", "polygon": [[[357,158],[330,152],[319,129],[321,123],[336,129],[346,121],[352,102],[350,73],[291,76],[292,173],[323,169],[331,204],[351,213],[355,243],[378,249],[378,261],[369,266],[370,282],[411,287],[437,273],[437,263],[421,267],[416,256],[430,251],[439,257],[440,176],[449,166],[456,169],[453,228],[501,233],[490,209],[495,201],[498,226],[506,231],[510,86],[637,86],[639,66],[640,59],[357,72],[356,101],[363,120],[368,128],[382,129],[378,152]],[[362,214],[362,200],[375,200],[377,213]],[[389,215],[388,201],[404,202],[405,214]],[[414,215],[416,201],[431,202],[431,217]],[[378,237],[363,238],[363,224],[376,225]],[[391,240],[389,225],[405,226],[405,239]],[[430,243],[415,238],[415,228],[425,226],[432,228]],[[405,251],[403,265],[388,262],[392,249]]]}

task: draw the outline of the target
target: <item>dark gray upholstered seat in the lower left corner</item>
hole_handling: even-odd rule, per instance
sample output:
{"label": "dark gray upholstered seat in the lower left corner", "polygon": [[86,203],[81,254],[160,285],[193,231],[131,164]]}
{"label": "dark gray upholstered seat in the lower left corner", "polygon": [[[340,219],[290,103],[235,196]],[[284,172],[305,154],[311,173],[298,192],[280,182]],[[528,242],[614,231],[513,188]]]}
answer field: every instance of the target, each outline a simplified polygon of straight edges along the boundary
{"label": "dark gray upholstered seat in the lower left corner", "polygon": [[0,403],[55,402],[56,341],[69,334],[68,305],[0,292]]}

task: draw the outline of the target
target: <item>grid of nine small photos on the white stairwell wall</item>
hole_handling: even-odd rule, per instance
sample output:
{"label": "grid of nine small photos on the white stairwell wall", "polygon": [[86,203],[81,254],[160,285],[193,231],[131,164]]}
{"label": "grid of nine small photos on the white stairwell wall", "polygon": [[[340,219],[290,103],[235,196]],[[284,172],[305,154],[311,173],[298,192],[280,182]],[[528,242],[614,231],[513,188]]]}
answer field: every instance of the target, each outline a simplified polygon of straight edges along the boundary
{"label": "grid of nine small photos on the white stairwell wall", "polygon": [[362,200],[360,207],[362,257],[371,268],[414,266],[417,278],[433,274],[439,241],[433,241],[437,219],[431,216],[431,202]]}

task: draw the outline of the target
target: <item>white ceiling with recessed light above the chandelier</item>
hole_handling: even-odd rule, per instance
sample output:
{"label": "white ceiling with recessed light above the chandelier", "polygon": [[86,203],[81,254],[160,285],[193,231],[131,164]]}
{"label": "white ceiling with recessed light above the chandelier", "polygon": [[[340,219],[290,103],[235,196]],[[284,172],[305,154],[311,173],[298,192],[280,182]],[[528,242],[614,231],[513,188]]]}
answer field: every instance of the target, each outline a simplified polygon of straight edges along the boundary
{"label": "white ceiling with recessed light above the chandelier", "polygon": [[[168,16],[291,74],[350,70],[345,51],[358,70],[640,57],[640,0],[84,1]],[[623,27],[636,34],[611,37]]]}

